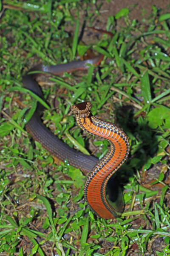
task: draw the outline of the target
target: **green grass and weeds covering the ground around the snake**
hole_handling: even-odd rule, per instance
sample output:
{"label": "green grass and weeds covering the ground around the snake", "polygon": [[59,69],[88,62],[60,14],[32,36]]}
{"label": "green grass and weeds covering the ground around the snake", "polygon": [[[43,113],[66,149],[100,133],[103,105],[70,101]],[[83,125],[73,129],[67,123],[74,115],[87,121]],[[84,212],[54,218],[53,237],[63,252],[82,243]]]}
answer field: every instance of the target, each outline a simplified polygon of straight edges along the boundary
{"label": "green grass and weeds covering the ground around the snake", "polygon": [[[170,14],[153,6],[141,23],[129,9],[108,17],[93,43],[79,40],[100,17],[84,1],[6,0],[1,17],[0,252],[5,255],[170,255]],[[124,26],[115,29],[115,21]],[[68,29],[68,26],[70,29]],[[67,31],[74,31],[71,36]],[[89,38],[86,38],[89,41]],[[116,221],[96,218],[83,200],[85,176],[57,160],[25,130],[36,107],[22,77],[37,61],[60,64],[89,47],[105,55],[99,68],[40,80],[48,110],[43,120],[59,138],[97,157],[108,142],[77,128],[70,105],[90,100],[92,113],[122,126],[130,155],[119,172],[125,211]],[[55,85],[55,86],[54,86]],[[56,97],[57,88],[57,97]],[[31,108],[28,114],[26,111]],[[56,111],[57,109],[57,111]],[[55,128],[56,127],[56,128]],[[81,145],[81,147],[79,146]]]}

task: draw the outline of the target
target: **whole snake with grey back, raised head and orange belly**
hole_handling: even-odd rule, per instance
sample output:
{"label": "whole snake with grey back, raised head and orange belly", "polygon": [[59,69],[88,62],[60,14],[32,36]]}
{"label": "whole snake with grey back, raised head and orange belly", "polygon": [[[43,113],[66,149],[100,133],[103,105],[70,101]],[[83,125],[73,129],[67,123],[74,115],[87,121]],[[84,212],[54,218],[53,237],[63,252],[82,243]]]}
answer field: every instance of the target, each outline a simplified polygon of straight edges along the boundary
{"label": "whole snake with grey back, raised head and orange belly", "polygon": [[[99,54],[91,59],[72,61],[67,64],[52,66],[39,64],[31,68],[23,76],[24,87],[44,99],[42,90],[36,81],[38,73],[34,73],[34,71],[62,75],[64,72],[87,70],[89,64],[97,66],[102,59],[103,55]],[[119,212],[122,209],[120,209],[120,205],[114,206],[111,204],[106,196],[106,188],[108,180],[125,162],[129,153],[127,135],[111,122],[102,121],[93,116],[91,114],[90,102],[72,106],[71,110],[76,115],[76,120],[80,128],[90,134],[103,137],[111,143],[108,153],[101,160],[98,160],[96,157],[85,155],[59,140],[58,137],[43,125],[41,120],[43,110],[44,107],[38,102],[34,114],[26,124],[28,133],[54,157],[57,157],[62,162],[68,160],[70,165],[79,168],[82,172],[89,173],[84,187],[85,200],[97,216],[105,219],[113,219],[119,216]]]}

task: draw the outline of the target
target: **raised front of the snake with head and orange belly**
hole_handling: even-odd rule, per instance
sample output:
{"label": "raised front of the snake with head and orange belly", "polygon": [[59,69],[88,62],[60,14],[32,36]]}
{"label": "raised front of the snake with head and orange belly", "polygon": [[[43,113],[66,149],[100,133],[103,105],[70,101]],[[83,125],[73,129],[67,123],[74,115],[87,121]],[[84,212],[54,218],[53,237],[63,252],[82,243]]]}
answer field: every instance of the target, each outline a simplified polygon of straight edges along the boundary
{"label": "raised front of the snake with head and orange belly", "polygon": [[102,121],[91,114],[91,103],[82,102],[71,106],[76,121],[82,130],[105,138],[111,143],[108,153],[102,157],[88,175],[84,194],[88,206],[96,215],[111,219],[118,214],[106,197],[106,185],[110,177],[125,162],[129,154],[127,135],[111,122]]}

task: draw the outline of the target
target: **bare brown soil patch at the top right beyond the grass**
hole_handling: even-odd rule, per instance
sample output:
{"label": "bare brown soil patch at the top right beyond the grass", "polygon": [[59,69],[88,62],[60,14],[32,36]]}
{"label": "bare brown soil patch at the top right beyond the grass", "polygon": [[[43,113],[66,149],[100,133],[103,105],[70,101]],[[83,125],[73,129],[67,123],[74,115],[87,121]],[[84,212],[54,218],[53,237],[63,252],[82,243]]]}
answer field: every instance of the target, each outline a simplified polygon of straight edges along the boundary
{"label": "bare brown soil patch at the top right beyond the grass", "polygon": [[[99,13],[100,15],[95,14],[96,6],[100,6]],[[80,28],[82,28],[84,25],[86,26],[93,26],[99,29],[106,30],[108,17],[115,16],[116,13],[118,13],[121,9],[127,8],[129,9],[129,18],[130,20],[136,20],[139,22],[144,21],[147,19],[150,15],[152,15],[153,7],[155,6],[160,14],[164,14],[167,12],[170,12],[170,2],[167,0],[97,0],[96,5],[91,7],[90,12],[91,15],[94,16],[94,22],[92,24],[84,24],[85,21],[85,9],[82,10],[82,12],[79,13],[80,17]],[[88,7],[88,6],[87,6]],[[74,11],[72,12],[73,16],[75,16]],[[113,29],[116,29],[119,31],[121,29],[121,26],[127,26],[125,24],[125,20],[118,19],[115,20],[115,25]],[[110,28],[111,29],[111,28]],[[75,27],[72,26],[70,23],[68,23],[66,31],[71,32],[72,35],[74,35]],[[80,32],[81,33],[81,32]],[[97,34],[97,33],[96,33]],[[89,32],[89,29],[85,29],[83,31],[83,38],[82,41],[89,45],[93,44],[95,42],[95,39],[97,41],[99,40],[99,37],[101,33],[98,33],[97,35],[95,32]]]}

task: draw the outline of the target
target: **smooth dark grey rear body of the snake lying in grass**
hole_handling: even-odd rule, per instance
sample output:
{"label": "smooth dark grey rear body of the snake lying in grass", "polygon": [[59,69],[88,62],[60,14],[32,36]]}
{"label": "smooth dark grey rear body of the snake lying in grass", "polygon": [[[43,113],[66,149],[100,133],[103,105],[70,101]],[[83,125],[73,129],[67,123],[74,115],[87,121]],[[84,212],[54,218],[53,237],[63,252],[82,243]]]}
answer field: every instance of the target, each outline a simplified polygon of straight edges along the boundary
{"label": "smooth dark grey rear body of the snake lying in grass", "polygon": [[[68,64],[60,64],[56,66],[37,65],[34,68],[31,68],[29,72],[43,71],[53,75],[61,75],[64,72],[88,69],[89,64],[99,65],[102,58],[103,55],[99,55],[96,58],[85,61],[72,61]],[[23,77],[24,86],[43,99],[42,90],[35,81],[38,73],[29,74],[29,72]],[[34,140],[41,143],[42,147],[49,151],[50,154],[54,155],[62,162],[67,159],[69,164],[81,169],[86,174],[90,172],[94,165],[98,162],[98,159],[93,156],[82,154],[81,152],[70,148],[68,145],[59,140],[59,138],[57,138],[48,128],[46,128],[45,125],[43,125],[40,118],[43,110],[44,107],[38,103],[36,111],[26,124],[28,133],[31,134]]]}

